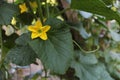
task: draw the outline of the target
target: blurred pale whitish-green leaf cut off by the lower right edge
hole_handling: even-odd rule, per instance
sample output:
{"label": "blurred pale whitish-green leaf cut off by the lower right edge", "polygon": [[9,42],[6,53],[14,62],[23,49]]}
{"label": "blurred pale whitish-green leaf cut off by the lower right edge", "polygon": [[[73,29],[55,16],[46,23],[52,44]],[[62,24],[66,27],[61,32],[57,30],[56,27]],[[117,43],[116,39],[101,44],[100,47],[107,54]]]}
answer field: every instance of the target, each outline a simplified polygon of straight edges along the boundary
{"label": "blurred pale whitish-green leaf cut off by the lower right edge", "polygon": [[107,63],[107,70],[110,74],[116,79],[120,79],[120,54],[116,53],[114,51],[111,51],[109,49],[105,50],[105,52],[101,52],[103,54],[103,57],[105,58],[105,61]]}

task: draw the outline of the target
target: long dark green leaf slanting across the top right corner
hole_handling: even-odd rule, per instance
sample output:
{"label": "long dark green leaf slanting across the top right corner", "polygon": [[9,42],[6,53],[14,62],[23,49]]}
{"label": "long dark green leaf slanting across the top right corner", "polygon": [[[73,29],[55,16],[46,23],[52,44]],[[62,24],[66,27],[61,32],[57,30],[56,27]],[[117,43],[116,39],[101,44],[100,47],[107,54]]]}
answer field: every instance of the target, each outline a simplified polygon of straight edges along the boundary
{"label": "long dark green leaf slanting across the top right corner", "polygon": [[[102,0],[72,0],[71,7],[94,14],[105,16],[107,19],[115,19],[120,24],[119,13],[108,8]],[[109,13],[109,14],[108,14]]]}

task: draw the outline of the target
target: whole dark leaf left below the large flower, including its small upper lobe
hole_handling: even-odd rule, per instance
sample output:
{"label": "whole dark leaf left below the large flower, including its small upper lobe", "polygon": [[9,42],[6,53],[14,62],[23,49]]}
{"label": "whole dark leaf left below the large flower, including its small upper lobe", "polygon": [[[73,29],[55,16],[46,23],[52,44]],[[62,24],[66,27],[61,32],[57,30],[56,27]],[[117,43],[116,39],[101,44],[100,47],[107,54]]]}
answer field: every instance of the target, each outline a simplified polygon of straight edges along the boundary
{"label": "whole dark leaf left below the large flower, including its small upper lobe", "polygon": [[29,65],[36,61],[37,55],[28,45],[30,40],[29,36],[30,35],[28,33],[23,34],[16,40],[17,46],[7,53],[5,61],[12,62],[20,66]]}

